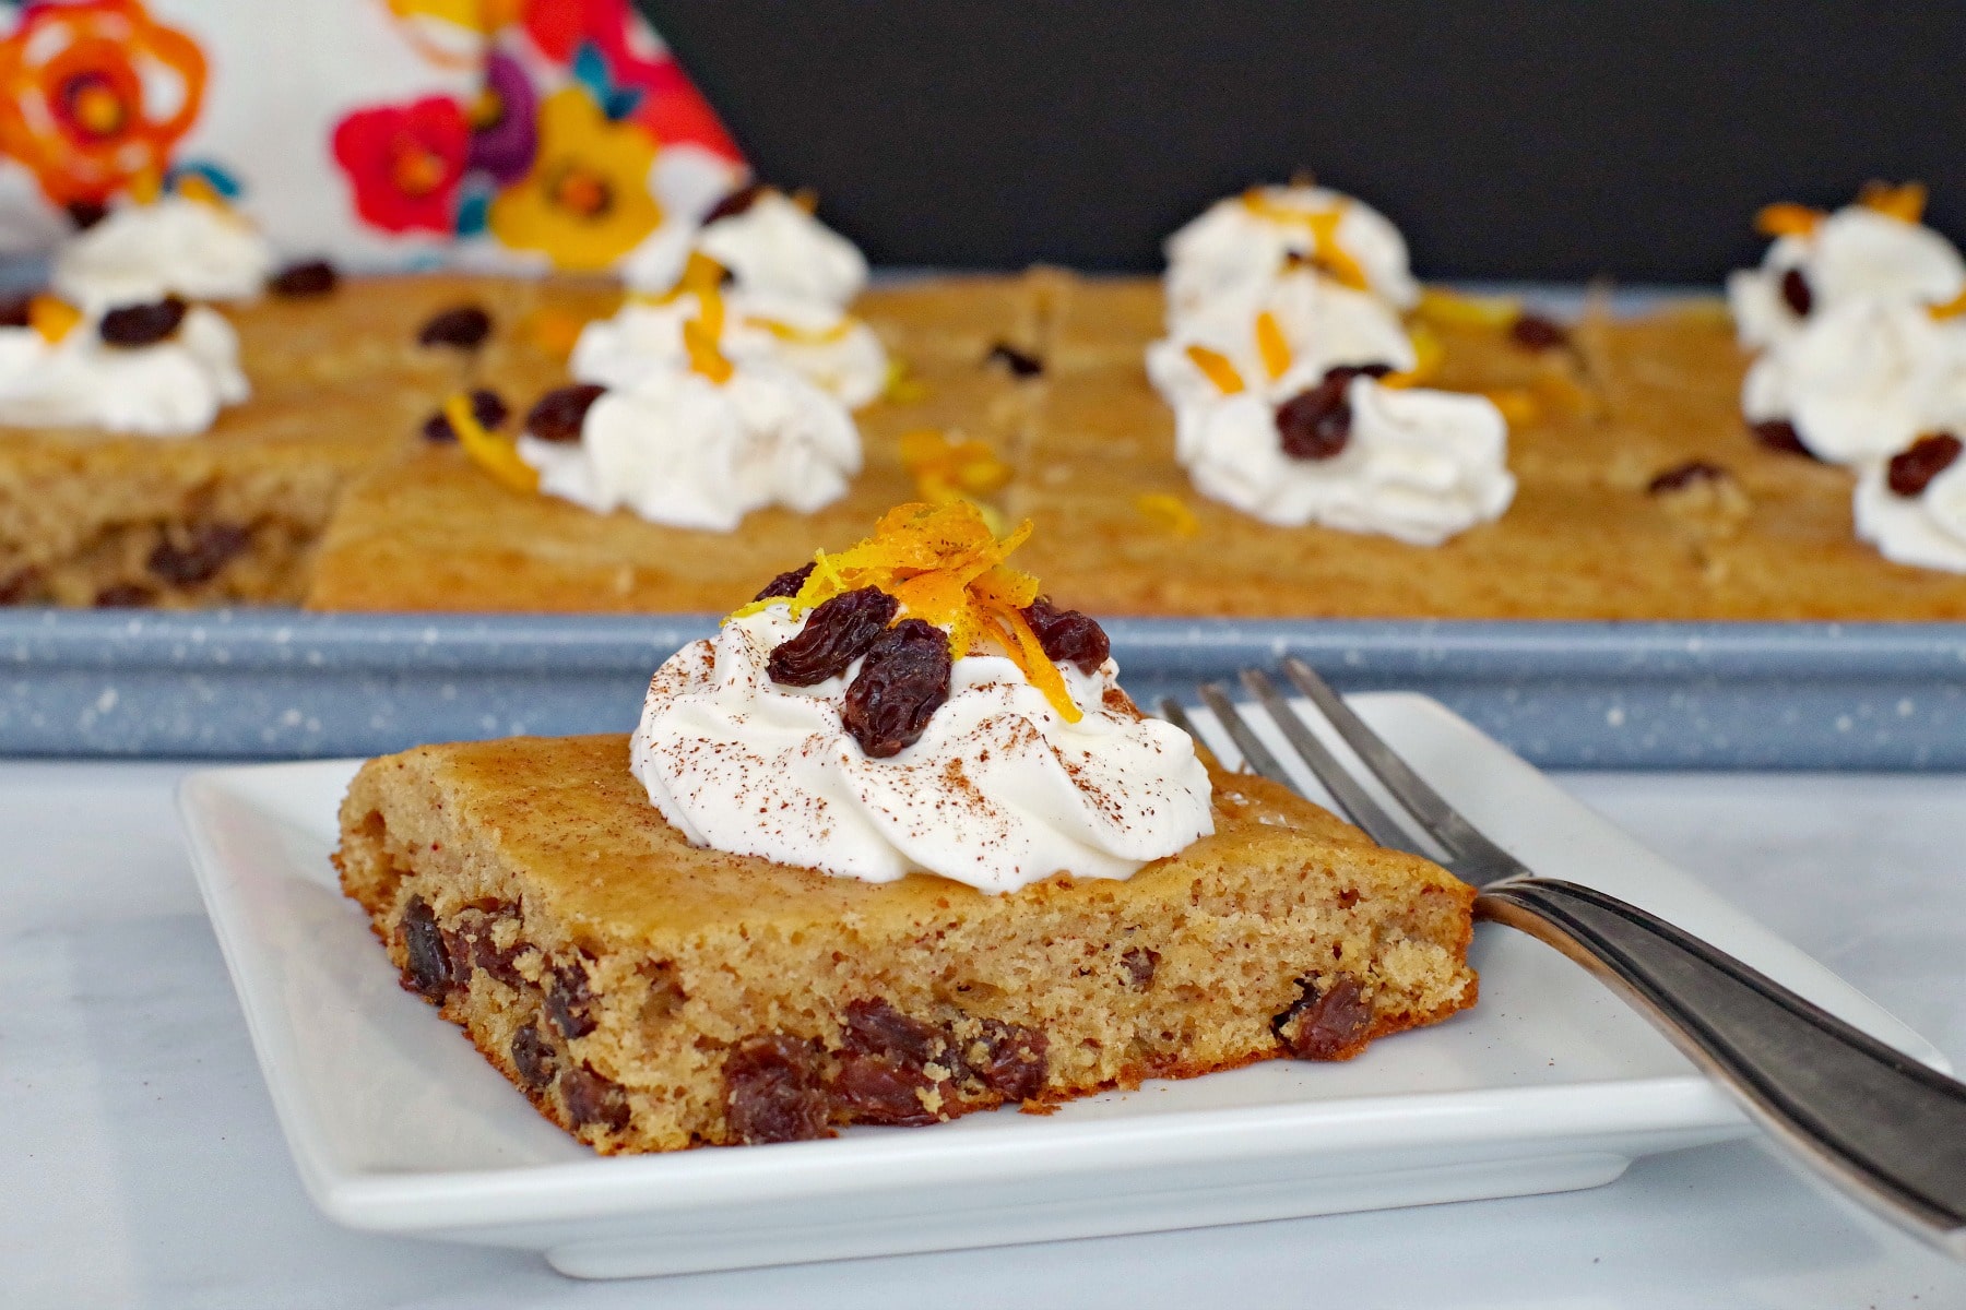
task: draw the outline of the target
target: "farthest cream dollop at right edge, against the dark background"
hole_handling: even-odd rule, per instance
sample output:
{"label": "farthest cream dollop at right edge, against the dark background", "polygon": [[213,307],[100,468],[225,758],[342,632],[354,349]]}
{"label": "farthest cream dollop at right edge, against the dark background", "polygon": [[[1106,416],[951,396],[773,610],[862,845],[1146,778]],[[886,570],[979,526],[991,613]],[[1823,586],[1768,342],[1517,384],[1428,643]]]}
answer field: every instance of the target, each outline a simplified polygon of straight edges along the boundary
{"label": "farthest cream dollop at right edge, against the dark background", "polygon": [[1728,275],[1742,346],[1764,350],[1856,302],[1946,304],[1966,291],[1966,259],[1931,228],[1868,204],[1777,238],[1758,269]]}

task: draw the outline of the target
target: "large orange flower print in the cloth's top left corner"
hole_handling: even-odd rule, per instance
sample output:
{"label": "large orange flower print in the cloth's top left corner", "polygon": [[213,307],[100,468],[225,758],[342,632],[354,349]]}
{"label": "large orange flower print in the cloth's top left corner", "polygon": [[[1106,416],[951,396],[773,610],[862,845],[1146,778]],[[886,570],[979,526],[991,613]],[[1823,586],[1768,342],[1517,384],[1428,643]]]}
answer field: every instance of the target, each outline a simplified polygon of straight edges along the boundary
{"label": "large orange flower print in the cloth's top left corner", "polygon": [[204,53],[140,0],[29,4],[0,41],[0,153],[61,206],[153,189],[202,100]]}

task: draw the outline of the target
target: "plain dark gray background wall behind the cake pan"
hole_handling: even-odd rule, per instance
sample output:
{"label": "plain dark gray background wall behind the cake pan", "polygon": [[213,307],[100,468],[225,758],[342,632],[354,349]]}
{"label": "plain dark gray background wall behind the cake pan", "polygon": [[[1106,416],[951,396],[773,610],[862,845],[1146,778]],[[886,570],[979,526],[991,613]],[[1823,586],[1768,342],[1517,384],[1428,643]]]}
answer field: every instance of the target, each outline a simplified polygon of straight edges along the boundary
{"label": "plain dark gray background wall behind the cake pan", "polygon": [[1431,277],[1716,281],[1868,177],[1966,230],[1966,4],[641,0],[877,263],[1158,267],[1315,169]]}

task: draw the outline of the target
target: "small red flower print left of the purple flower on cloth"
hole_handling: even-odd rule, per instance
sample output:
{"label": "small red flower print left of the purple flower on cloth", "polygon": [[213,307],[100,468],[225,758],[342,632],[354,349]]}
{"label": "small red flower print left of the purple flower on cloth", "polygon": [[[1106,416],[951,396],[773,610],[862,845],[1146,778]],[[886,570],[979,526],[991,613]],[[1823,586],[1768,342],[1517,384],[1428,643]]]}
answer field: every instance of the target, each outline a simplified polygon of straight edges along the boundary
{"label": "small red flower print left of the purple flower on cloth", "polygon": [[356,214],[383,232],[450,232],[470,153],[464,108],[448,96],[356,110],[334,126],[334,159]]}

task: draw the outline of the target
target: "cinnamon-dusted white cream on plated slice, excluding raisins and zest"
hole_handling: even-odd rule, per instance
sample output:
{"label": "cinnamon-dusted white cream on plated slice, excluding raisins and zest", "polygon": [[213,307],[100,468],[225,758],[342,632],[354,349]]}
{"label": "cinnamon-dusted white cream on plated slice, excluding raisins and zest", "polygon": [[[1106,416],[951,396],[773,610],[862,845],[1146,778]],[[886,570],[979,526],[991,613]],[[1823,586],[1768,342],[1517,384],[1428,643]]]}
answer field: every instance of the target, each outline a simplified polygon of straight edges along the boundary
{"label": "cinnamon-dusted white cream on plated slice, excluding raisins and zest", "polygon": [[1014,892],[1127,878],[1215,829],[1193,744],[1138,717],[1111,660],[1058,666],[1083,711],[1068,723],[1009,658],[957,658],[920,738],[869,758],[841,723],[859,662],[810,687],[767,672],[804,623],[788,603],[731,619],[649,683],[631,766],[688,841],[867,882],[930,872]]}

